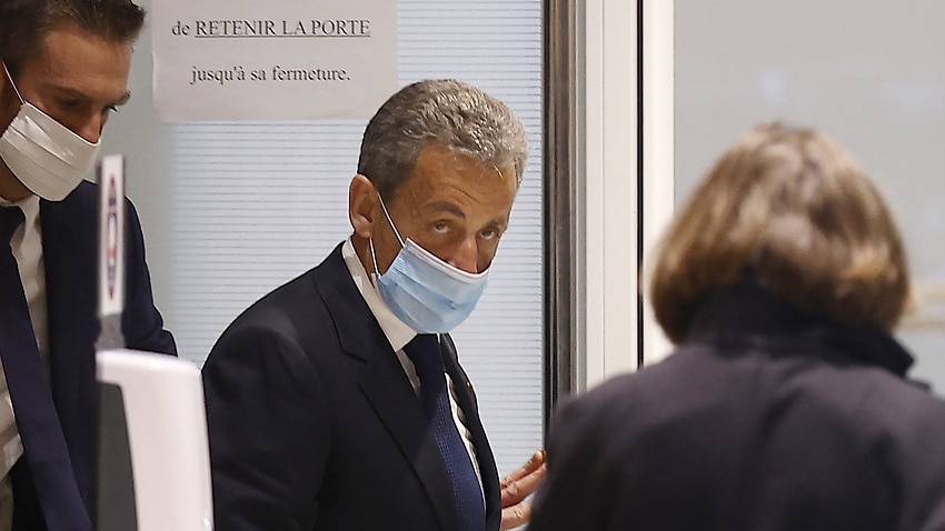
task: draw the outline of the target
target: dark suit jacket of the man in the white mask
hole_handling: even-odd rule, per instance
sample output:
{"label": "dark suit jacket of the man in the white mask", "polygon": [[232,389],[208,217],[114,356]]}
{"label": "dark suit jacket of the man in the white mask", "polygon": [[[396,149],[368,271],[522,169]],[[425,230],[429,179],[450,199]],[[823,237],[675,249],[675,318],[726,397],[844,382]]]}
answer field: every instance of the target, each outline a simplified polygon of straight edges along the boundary
{"label": "dark suit jacket of the man in the white mask", "polygon": [[[155,308],[138,214],[127,204],[126,302],[122,328],[130,349],[176,353],[171,334]],[[94,343],[98,321],[98,188],[87,181],[59,202],[40,201],[42,253],[49,320],[52,398],[79,491],[91,511],[97,463]],[[30,449],[26,448],[26,452]],[[17,478],[14,529],[44,529],[31,490],[26,459]]]}

